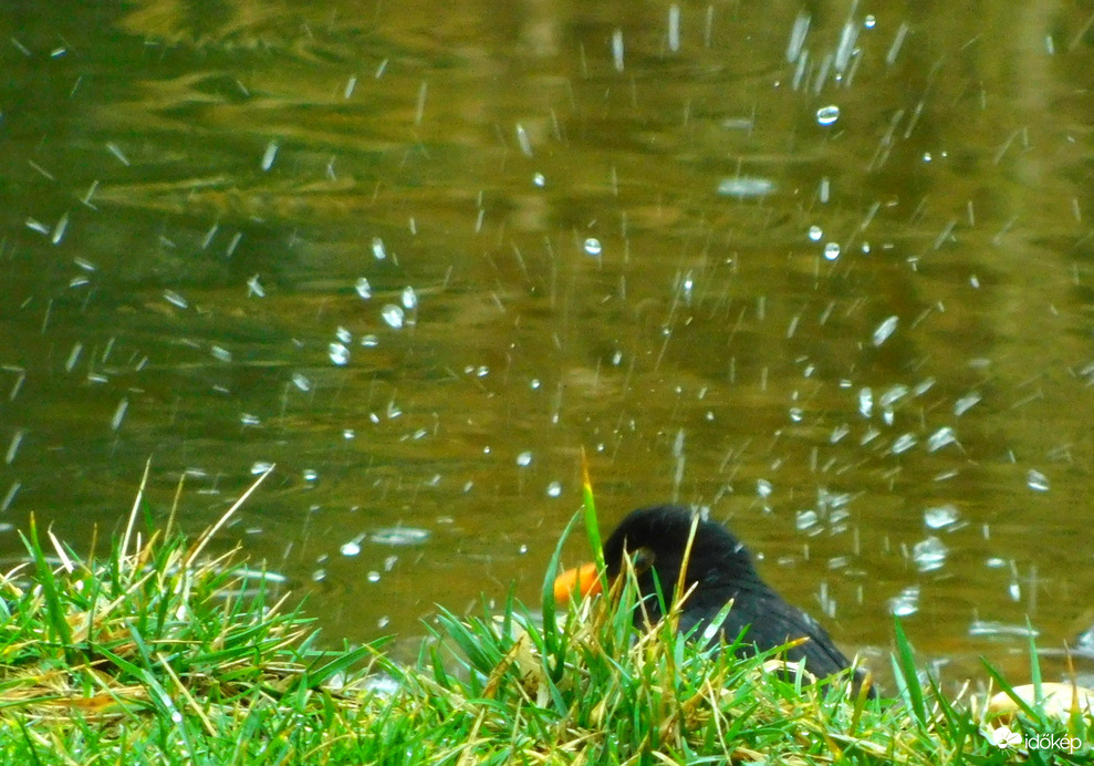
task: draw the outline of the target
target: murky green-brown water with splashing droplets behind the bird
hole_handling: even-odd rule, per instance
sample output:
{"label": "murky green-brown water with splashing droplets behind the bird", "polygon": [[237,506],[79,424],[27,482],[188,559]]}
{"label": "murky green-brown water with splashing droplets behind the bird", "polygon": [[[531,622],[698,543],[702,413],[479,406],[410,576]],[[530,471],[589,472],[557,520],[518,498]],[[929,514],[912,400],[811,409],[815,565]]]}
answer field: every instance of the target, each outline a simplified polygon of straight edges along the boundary
{"label": "murky green-brown water with splashing droplets behind the bird", "polygon": [[1088,8],[33,8],[8,553],[116,528],[149,456],[194,529],[277,463],[226,545],[413,643],[535,601],[585,447],[607,526],[709,507],[852,649],[894,608],[960,667],[1090,624]]}

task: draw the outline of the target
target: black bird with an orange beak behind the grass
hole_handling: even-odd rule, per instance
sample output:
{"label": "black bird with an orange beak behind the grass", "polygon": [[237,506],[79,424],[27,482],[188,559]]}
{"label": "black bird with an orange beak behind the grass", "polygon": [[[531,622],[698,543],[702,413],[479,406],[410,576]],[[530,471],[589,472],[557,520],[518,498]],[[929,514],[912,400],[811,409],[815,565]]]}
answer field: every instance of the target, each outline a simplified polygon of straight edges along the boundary
{"label": "black bird with an orange beak behind the grass", "polygon": [[[644,598],[646,613],[654,622],[663,617],[656,583],[659,583],[665,602],[670,602],[684,568],[692,519],[691,511],[679,506],[640,508],[623,519],[604,544],[609,580],[623,570],[624,553],[631,556],[638,591]],[[600,591],[593,565],[565,572],[555,581],[555,598],[560,601],[569,598],[573,590],[580,590],[582,594]],[[795,639],[806,639],[786,650],[786,660],[804,661],[805,669],[819,679],[851,666],[816,620],[786,603],[760,578],[748,548],[720,524],[698,521],[683,592],[688,590],[691,592],[680,612],[681,633],[698,627],[694,635],[702,635],[732,600],[733,605],[716,630],[712,642],[717,642],[719,633],[727,642],[732,642],[748,629],[740,654],[751,655]],[[861,682],[858,679],[856,686]]]}

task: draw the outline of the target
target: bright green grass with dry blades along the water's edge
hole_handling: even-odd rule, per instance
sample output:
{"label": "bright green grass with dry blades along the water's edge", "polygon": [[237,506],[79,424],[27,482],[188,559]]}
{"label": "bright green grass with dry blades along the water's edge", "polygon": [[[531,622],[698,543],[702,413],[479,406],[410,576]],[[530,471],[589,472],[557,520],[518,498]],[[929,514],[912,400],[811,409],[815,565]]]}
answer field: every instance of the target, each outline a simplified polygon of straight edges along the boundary
{"label": "bright green grass with dry blades along the water's edge", "polygon": [[103,557],[32,524],[27,563],[0,581],[0,763],[1091,762],[1090,717],[1029,705],[1014,726],[1083,748],[996,747],[977,707],[920,683],[899,629],[897,698],[877,701],[772,672],[770,655],[705,653],[673,617],[636,630],[633,582],[555,615],[558,555],[545,624],[510,599],[500,614],[441,611],[410,666],[378,644],[322,651],[262,572],[205,553],[216,528],[191,542],[168,522],[142,541],[138,506]]}

